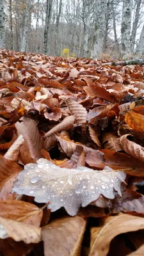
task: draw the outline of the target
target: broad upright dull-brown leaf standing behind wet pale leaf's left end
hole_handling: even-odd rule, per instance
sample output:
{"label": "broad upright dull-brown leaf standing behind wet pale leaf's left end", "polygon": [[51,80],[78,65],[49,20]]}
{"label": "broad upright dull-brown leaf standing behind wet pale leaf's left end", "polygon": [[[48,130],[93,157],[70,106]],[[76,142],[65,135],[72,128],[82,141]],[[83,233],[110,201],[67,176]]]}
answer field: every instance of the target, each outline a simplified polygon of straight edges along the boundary
{"label": "broad upright dull-brown leaf standing behind wet pale leaf's left end", "polygon": [[26,150],[29,150],[33,159],[42,157],[41,150],[44,148],[44,141],[38,132],[36,122],[32,119],[23,118],[23,122],[15,124],[18,134],[22,134]]}

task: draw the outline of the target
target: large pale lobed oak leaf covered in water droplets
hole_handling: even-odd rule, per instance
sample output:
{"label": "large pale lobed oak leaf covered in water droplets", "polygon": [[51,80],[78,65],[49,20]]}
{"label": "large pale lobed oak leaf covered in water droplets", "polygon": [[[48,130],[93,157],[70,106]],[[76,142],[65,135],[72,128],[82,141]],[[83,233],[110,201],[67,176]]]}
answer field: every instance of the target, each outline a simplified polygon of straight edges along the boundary
{"label": "large pale lobed oak leaf covered in water droplets", "polygon": [[77,169],[60,168],[47,159],[39,159],[37,164],[26,164],[14,183],[12,192],[34,196],[38,203],[51,201],[51,211],[65,207],[74,216],[79,207],[86,207],[100,195],[113,199],[114,189],[121,195],[124,172],[114,172],[108,166],[102,171],[86,167]]}

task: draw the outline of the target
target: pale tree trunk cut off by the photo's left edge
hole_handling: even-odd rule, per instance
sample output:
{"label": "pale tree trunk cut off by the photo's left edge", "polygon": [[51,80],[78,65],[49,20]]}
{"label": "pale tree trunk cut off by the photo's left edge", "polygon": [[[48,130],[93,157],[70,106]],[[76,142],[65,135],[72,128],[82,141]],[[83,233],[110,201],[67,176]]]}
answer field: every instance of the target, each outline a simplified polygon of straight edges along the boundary
{"label": "pale tree trunk cut off by the photo's left edge", "polygon": [[4,0],[0,0],[0,48],[6,47]]}

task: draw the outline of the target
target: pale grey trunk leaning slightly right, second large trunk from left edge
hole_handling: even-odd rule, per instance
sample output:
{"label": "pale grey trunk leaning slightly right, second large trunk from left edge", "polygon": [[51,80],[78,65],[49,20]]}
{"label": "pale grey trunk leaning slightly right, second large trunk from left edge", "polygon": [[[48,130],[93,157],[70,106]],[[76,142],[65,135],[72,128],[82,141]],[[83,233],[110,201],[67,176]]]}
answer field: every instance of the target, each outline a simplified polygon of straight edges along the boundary
{"label": "pale grey trunk leaning slightly right, second large trunk from left edge", "polygon": [[26,11],[25,11],[25,19],[24,19],[24,33],[22,36],[22,42],[21,42],[21,47],[20,47],[20,51],[22,52],[26,52],[27,47],[28,47],[28,31],[29,31],[29,13],[30,13],[30,9],[31,9],[31,0],[27,1],[26,4]]}

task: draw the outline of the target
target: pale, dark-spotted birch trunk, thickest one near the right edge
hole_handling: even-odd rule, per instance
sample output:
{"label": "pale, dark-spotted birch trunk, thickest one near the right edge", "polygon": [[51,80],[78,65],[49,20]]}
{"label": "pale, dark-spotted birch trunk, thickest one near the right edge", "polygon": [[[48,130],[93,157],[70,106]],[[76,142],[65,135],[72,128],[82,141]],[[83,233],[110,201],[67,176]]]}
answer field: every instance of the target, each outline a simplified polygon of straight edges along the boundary
{"label": "pale, dark-spotted birch trunk, thickest one near the right edge", "polygon": [[131,52],[131,15],[132,0],[124,0],[122,9],[121,40],[123,57],[129,56]]}

